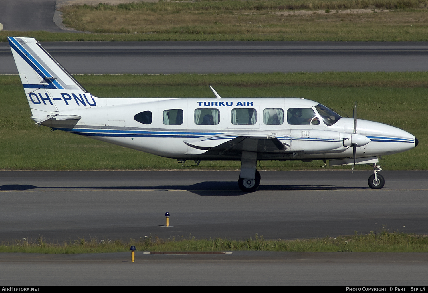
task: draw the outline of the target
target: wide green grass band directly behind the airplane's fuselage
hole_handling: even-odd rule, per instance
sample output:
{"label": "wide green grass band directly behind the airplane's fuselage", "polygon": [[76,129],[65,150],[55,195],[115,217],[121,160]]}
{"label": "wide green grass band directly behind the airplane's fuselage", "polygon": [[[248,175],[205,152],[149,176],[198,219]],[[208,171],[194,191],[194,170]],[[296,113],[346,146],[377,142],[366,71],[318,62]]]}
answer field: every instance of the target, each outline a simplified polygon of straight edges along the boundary
{"label": "wide green grass band directly behind the airplane's fuselage", "polygon": [[[297,73],[78,75],[77,80],[100,97],[304,97],[352,116],[402,128],[419,139],[411,151],[384,156],[386,170],[428,169],[428,73]],[[199,167],[110,145],[95,139],[37,127],[18,76],[0,76],[0,169],[239,169],[237,161],[203,161]],[[349,169],[322,167],[321,161],[262,161],[259,170]],[[357,166],[368,169],[368,166]]]}

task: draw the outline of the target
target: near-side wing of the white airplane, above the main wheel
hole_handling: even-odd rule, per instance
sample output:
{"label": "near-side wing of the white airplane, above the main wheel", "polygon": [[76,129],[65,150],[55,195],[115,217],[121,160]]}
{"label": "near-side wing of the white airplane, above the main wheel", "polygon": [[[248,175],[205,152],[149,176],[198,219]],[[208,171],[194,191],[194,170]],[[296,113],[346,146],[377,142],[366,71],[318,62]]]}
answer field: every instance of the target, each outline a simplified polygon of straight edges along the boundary
{"label": "near-side wing of the white airplane, above the main wheel", "polygon": [[220,151],[240,153],[242,151],[253,152],[277,152],[287,148],[276,136],[267,133],[242,133],[242,134],[220,134],[203,136],[197,139],[188,139],[184,143],[190,147],[200,150],[190,151],[189,154],[203,154],[205,151]]}

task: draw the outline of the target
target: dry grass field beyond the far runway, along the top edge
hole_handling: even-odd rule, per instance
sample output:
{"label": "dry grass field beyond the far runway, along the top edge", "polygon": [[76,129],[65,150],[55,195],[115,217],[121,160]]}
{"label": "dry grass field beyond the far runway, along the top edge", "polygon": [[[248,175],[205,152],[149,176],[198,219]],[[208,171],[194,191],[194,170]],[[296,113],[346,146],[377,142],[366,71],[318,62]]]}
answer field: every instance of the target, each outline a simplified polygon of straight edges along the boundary
{"label": "dry grass field beyond the far runway, along the top edge", "polygon": [[[427,4],[428,0],[196,0],[64,6],[64,24],[84,33],[13,32],[5,27],[0,41],[12,35],[39,41],[427,41]],[[341,13],[347,9],[366,11]]]}

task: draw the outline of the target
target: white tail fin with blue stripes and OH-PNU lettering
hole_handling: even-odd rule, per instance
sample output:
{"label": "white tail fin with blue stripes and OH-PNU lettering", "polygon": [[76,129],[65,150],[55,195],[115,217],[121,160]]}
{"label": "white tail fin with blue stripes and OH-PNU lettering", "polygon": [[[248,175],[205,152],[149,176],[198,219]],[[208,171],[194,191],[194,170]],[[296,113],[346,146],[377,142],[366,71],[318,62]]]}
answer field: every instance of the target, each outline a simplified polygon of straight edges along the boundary
{"label": "white tail fin with blue stripes and OH-PNU lettering", "polygon": [[33,119],[97,105],[81,86],[34,38],[8,37]]}

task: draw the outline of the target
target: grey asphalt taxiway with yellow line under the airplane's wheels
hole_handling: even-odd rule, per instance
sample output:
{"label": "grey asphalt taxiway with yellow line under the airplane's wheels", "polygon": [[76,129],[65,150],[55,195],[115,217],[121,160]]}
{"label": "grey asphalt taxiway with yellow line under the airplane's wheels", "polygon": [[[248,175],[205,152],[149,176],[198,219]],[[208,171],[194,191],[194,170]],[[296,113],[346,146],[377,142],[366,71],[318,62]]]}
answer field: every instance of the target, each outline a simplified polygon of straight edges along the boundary
{"label": "grey asphalt taxiway with yellow line under the airplane's wheels", "polygon": [[261,172],[253,193],[238,189],[238,173],[0,172],[0,241],[428,232],[428,171],[382,171],[381,190],[368,187],[370,171]]}

